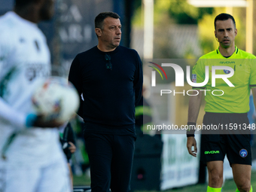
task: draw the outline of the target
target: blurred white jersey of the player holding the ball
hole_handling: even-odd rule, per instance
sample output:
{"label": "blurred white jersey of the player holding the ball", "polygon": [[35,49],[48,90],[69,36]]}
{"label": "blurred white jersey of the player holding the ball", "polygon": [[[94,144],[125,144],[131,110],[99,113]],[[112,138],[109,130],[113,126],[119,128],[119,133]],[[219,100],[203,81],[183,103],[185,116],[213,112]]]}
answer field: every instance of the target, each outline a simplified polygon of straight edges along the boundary
{"label": "blurred white jersey of the player holding the ball", "polygon": [[[0,154],[9,136],[17,133],[6,151],[5,162],[12,166],[44,166],[64,159],[58,130],[25,126],[26,115],[35,112],[33,90],[48,75],[50,51],[38,26],[13,11],[0,17]],[[14,120],[5,118],[9,109],[17,113]]]}

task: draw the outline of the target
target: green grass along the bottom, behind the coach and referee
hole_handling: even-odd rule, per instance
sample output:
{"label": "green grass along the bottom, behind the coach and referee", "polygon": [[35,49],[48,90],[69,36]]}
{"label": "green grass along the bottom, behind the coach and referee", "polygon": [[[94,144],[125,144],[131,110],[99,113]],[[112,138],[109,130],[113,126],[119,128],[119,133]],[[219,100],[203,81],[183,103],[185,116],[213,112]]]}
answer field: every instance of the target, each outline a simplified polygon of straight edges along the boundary
{"label": "green grass along the bottom, behind the coach and referee", "polygon": [[[90,178],[86,175],[81,177],[74,176],[74,186],[75,185],[90,185]],[[256,171],[251,172],[251,186],[256,190]],[[175,188],[172,190],[165,190],[165,192],[206,192],[207,184],[195,184],[181,188]],[[156,190],[150,190],[151,192],[157,192]],[[223,192],[235,192],[236,191],[236,184],[233,179],[226,180],[224,183],[224,187],[222,188]],[[136,192],[149,192],[149,190],[138,190]]]}

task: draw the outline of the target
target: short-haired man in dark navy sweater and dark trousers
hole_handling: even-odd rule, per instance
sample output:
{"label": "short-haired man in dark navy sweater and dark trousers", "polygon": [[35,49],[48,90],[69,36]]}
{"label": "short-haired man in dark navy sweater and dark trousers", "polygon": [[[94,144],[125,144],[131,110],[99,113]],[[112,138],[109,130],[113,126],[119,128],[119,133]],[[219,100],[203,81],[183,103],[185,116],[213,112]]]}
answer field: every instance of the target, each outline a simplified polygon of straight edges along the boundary
{"label": "short-haired man in dark navy sweater and dark trousers", "polygon": [[95,19],[98,45],[79,53],[69,81],[83,96],[78,114],[90,160],[92,192],[130,189],[135,106],[142,93],[142,62],[136,50],[119,46],[121,24],[112,12]]}

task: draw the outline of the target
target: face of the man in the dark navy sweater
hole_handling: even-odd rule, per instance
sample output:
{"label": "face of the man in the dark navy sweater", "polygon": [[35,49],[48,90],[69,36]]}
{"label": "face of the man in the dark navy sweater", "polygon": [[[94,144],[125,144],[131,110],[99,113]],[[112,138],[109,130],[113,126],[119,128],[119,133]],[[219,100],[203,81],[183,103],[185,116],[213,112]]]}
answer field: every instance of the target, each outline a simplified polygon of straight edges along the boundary
{"label": "face of the man in the dark navy sweater", "polygon": [[103,21],[103,29],[97,35],[109,50],[116,48],[121,41],[121,23],[119,19],[107,17]]}

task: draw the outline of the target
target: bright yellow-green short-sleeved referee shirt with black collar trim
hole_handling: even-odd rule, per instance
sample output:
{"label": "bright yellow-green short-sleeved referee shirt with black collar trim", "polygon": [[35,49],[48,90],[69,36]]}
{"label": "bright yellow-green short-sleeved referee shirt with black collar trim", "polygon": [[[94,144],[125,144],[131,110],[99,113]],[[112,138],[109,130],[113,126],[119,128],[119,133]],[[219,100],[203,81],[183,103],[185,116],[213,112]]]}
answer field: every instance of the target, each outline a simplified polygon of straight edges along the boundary
{"label": "bright yellow-green short-sleeved referee shirt with black collar trim", "polygon": [[[205,67],[209,66],[209,81],[204,87],[193,87],[194,90],[204,90],[206,93],[206,112],[212,113],[247,113],[249,111],[249,96],[251,87],[256,87],[256,56],[239,50],[225,58],[219,50],[214,50],[200,57],[192,70],[192,81],[201,83],[205,80]],[[235,87],[216,78],[216,86],[212,87],[212,66],[229,66],[234,70],[234,75],[227,78]],[[216,70],[216,75],[225,75],[229,70]],[[214,91],[215,95],[212,95]]]}

